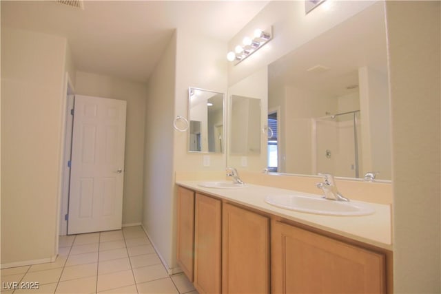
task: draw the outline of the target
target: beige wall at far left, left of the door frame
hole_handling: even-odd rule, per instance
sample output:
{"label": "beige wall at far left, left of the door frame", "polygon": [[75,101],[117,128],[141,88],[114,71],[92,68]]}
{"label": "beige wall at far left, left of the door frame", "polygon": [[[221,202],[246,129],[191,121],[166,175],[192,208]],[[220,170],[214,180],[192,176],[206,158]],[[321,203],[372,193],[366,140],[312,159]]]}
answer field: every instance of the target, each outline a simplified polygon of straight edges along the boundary
{"label": "beige wall at far left, left of the door frame", "polygon": [[66,40],[1,28],[1,265],[57,254]]}

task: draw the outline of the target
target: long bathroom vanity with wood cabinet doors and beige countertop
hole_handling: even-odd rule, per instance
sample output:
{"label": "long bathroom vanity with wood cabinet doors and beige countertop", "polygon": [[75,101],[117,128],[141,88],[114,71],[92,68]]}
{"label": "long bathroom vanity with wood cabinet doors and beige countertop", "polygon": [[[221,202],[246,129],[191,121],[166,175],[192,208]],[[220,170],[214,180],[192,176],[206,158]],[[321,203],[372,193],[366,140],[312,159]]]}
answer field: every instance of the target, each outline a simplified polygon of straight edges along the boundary
{"label": "long bathroom vanity with wood cabinet doors and beige countertop", "polygon": [[199,293],[392,293],[389,205],[323,216],[264,201],[285,189],[176,184],[178,264]]}

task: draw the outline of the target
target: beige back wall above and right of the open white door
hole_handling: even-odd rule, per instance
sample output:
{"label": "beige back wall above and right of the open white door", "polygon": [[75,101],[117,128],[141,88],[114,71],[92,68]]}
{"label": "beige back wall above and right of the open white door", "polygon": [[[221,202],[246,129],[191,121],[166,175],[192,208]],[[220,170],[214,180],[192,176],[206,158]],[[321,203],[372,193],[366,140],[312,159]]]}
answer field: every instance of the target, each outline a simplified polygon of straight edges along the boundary
{"label": "beige back wall above and right of the open white door", "polygon": [[114,76],[76,72],[75,94],[127,101],[123,225],[143,217],[144,127],[147,84]]}

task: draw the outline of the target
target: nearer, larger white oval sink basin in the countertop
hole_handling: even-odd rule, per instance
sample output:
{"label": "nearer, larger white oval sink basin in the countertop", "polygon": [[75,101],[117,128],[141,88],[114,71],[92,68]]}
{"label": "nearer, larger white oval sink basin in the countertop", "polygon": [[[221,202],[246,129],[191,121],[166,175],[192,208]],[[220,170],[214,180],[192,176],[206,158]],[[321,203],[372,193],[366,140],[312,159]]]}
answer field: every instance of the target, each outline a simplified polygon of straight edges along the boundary
{"label": "nearer, larger white oval sink basin in the countertop", "polygon": [[375,212],[375,210],[365,202],[356,200],[349,202],[327,200],[320,196],[309,197],[293,194],[271,195],[265,198],[265,202],[283,209],[329,216],[366,216]]}

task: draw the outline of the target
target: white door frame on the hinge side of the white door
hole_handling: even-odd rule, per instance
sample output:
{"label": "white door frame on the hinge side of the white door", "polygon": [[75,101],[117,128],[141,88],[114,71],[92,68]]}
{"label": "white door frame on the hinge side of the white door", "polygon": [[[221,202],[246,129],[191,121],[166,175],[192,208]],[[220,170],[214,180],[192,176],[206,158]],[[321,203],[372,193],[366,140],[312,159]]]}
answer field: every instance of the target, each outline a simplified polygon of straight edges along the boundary
{"label": "white door frame on the hinge side of the white door", "polygon": [[[63,90],[63,118],[62,118],[62,129],[63,135],[61,136],[62,149],[61,149],[61,176],[60,176],[60,196],[59,196],[59,228],[57,229],[58,235],[67,235],[68,233],[68,221],[65,220],[65,215],[68,214],[69,206],[69,182],[70,182],[70,167],[68,162],[70,161],[70,156],[72,154],[72,126],[73,126],[73,116],[71,115],[70,109],[74,106],[74,86],[70,80],[69,73],[65,73],[65,88]],[[57,238],[58,240],[58,238]],[[58,241],[57,241],[58,243]],[[57,244],[58,248],[58,244]]]}

